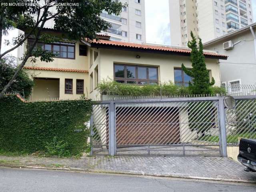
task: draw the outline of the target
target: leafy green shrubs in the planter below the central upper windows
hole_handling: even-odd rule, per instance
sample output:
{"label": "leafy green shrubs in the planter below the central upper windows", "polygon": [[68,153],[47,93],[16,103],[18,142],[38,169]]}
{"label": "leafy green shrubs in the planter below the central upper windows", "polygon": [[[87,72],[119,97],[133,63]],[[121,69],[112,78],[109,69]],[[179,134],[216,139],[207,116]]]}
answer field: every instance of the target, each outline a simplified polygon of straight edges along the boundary
{"label": "leafy green shrubs in the planter below the central upper windows", "polygon": [[[180,87],[172,82],[161,85],[132,85],[122,84],[112,80],[102,80],[98,84],[98,90],[102,95],[121,95],[121,96],[175,96],[190,95],[191,90],[188,87]],[[211,87],[212,94],[225,93],[224,88]]]}

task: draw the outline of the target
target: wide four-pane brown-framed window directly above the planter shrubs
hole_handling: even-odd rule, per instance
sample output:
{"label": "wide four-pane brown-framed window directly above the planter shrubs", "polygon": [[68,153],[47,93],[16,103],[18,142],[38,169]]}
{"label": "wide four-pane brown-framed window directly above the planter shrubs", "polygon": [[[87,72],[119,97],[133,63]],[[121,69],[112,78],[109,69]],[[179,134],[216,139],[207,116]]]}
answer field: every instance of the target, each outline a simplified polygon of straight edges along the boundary
{"label": "wide four-pane brown-framed window directly above the planter shrubs", "polygon": [[158,84],[158,68],[114,64],[114,80],[128,84]]}

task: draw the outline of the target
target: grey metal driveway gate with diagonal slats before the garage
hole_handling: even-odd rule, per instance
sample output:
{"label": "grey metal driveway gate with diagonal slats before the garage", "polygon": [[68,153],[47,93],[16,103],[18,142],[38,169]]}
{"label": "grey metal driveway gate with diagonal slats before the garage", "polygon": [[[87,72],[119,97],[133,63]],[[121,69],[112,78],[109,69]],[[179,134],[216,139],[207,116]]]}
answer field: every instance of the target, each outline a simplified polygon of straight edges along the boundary
{"label": "grey metal driveway gate with diagonal slats before the garage", "polygon": [[220,128],[224,110],[219,110],[223,105],[219,100],[168,98],[94,104],[92,154],[223,156],[220,143],[226,132]]}

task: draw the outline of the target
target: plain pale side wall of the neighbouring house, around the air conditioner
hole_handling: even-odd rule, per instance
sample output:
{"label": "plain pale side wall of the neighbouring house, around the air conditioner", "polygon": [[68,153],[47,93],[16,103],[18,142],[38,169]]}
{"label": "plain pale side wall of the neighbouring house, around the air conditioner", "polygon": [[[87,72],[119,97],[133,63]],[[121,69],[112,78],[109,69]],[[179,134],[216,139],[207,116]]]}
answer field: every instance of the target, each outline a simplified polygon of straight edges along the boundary
{"label": "plain pale side wall of the neighbouring house, around the air conditioner", "polygon": [[[254,29],[254,32],[256,30]],[[224,50],[223,43],[232,40],[236,44],[231,50]],[[220,74],[222,82],[240,80],[240,84],[256,83],[256,58],[255,47],[250,30],[234,37],[227,37],[210,45],[205,45],[208,50],[218,51],[219,54],[228,55],[228,60],[220,60]]]}

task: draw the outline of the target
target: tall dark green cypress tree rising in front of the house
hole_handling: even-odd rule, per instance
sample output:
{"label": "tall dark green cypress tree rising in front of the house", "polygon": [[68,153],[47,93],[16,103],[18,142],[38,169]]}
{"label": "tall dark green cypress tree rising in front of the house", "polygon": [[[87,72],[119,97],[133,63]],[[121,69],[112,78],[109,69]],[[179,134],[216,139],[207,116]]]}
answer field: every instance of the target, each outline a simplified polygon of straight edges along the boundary
{"label": "tall dark green cypress tree rising in front of the house", "polygon": [[193,82],[189,83],[192,94],[212,94],[210,86],[215,84],[215,80],[212,78],[210,82],[209,71],[206,69],[204,60],[202,40],[199,38],[198,48],[193,32],[190,35],[192,41],[188,42],[188,47],[191,48],[190,60],[192,62],[192,70],[187,69],[183,63],[182,70],[193,79]]}

